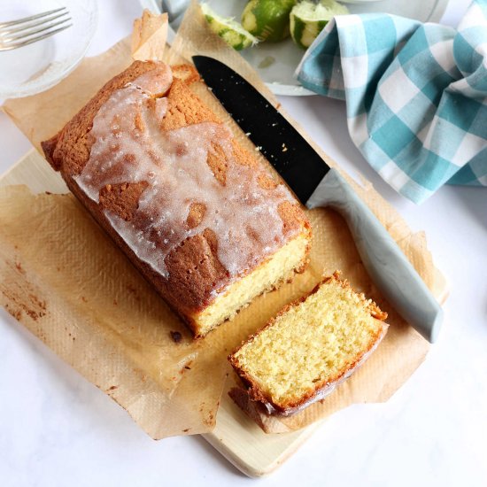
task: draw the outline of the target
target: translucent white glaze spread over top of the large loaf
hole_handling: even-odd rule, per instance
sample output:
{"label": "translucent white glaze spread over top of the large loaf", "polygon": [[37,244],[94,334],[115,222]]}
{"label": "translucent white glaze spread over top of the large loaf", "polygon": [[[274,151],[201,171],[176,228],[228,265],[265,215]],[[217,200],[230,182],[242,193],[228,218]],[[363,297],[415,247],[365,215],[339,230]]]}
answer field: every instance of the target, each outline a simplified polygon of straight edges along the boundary
{"label": "translucent white glaze spread over top of the large loaf", "polygon": [[[167,70],[162,77],[144,73],[102,105],[90,131],[89,161],[75,181],[96,202],[107,185],[146,182],[130,221],[104,211],[135,255],[168,277],[169,252],[209,228],[218,239],[218,259],[233,278],[284,243],[278,208],[295,200],[282,184],[268,197],[256,171],[236,163],[232,135],[222,124],[160,129],[167,109],[161,96],[172,81]],[[215,143],[228,160],[225,184],[206,162]],[[205,213],[197,227],[189,228],[189,209],[196,203],[205,205]]]}

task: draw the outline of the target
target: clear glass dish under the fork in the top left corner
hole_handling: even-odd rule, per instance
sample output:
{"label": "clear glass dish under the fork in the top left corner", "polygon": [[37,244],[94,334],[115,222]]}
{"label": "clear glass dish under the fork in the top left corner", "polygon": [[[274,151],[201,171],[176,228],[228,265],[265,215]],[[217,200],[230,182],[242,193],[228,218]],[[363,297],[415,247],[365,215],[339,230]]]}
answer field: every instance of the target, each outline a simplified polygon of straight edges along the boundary
{"label": "clear glass dish under the fork in the top left corner", "polygon": [[97,27],[96,0],[9,0],[0,21],[66,6],[73,26],[38,43],[0,51],[0,100],[27,97],[54,86],[80,63]]}

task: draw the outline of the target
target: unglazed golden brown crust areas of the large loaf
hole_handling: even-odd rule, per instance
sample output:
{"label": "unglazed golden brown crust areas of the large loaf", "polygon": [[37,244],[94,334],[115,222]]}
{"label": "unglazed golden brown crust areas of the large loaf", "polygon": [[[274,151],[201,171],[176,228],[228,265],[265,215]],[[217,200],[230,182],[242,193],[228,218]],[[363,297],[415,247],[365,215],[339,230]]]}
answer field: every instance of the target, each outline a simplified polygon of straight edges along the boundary
{"label": "unglazed golden brown crust areas of the large loaf", "polygon": [[[162,65],[163,66],[163,65]],[[102,89],[78,112],[58,135],[42,144],[43,151],[50,165],[59,171],[68,188],[85,205],[89,212],[112,239],[125,251],[144,277],[151,282],[166,302],[179,313],[189,324],[193,325],[191,315],[205,309],[214,298],[215,282],[228,280],[228,272],[217,258],[217,238],[211,230],[205,230],[196,236],[189,237],[178,248],[166,257],[166,268],[169,278],[164,278],[152,269],[149,264],[138,259],[112,225],[104,216],[104,210],[110,210],[124,220],[130,220],[138,205],[144,189],[144,182],[107,185],[100,191],[99,203],[96,203],[79,188],[73,177],[81,174],[89,161],[90,149],[94,141],[90,137],[93,120],[100,107],[111,97],[112,93],[125,87],[143,73],[160,70],[159,63],[135,61],[124,72],[108,81]],[[197,73],[192,66],[175,66],[174,81],[166,94],[168,108],[162,121],[162,129],[170,130],[202,121],[220,122],[216,115],[189,89],[189,84],[197,82]],[[233,142],[234,155],[239,164],[255,166],[260,170],[259,160],[245,151],[236,141]],[[217,151],[215,151],[217,152]],[[225,182],[226,161],[221,154],[213,154],[207,160],[216,179]],[[259,185],[268,188],[269,198],[273,197],[273,184],[262,172]],[[193,205],[189,211],[187,224],[189,228],[197,225],[202,209]],[[298,205],[288,202],[279,206],[279,214],[283,221],[284,236],[304,228],[310,232],[310,224]],[[242,273],[248,274],[253,269]],[[221,288],[221,286],[220,286]],[[218,291],[218,290],[217,290]],[[195,329],[193,328],[195,331]]]}

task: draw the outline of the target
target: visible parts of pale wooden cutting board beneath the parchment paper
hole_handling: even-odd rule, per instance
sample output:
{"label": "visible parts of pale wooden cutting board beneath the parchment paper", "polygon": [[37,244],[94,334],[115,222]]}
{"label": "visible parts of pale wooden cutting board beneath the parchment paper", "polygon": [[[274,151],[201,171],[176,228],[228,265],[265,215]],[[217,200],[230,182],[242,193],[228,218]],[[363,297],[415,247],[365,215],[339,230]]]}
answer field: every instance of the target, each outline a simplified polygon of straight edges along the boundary
{"label": "visible parts of pale wooden cutting board beneath the parchment paper", "polygon": [[[14,184],[24,184],[34,193],[68,192],[61,176],[52,171],[34,149],[28,151],[6,174],[0,176],[0,187]],[[448,295],[447,283],[438,270],[433,293],[440,303]],[[318,421],[292,433],[268,435],[228,398],[227,391],[231,384],[229,379],[221,398],[216,428],[203,437],[245,475],[259,476],[272,472],[296,452],[299,445],[321,425],[322,421]]]}

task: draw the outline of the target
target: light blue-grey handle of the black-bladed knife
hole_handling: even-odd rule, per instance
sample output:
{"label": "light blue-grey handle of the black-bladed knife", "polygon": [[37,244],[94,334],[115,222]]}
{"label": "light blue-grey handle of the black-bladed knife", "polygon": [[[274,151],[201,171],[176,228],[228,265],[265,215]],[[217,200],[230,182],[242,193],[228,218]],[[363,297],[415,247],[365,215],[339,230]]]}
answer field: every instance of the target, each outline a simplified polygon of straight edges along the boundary
{"label": "light blue-grey handle of the black-bladed knife", "polygon": [[422,336],[435,342],[442,308],[383,224],[336,169],[329,170],[306,206],[329,206],[344,217],[362,262],[384,298]]}

